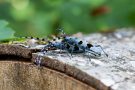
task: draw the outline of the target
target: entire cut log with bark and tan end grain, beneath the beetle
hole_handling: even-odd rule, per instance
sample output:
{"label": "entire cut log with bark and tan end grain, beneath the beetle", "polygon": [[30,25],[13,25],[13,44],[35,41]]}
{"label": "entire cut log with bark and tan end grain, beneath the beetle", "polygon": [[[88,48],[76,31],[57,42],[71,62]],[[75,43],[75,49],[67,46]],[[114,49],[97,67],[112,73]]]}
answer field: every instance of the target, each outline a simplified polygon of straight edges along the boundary
{"label": "entire cut log with bark and tan end grain, beneath the beetle", "polygon": [[[0,89],[135,90],[133,30],[123,28],[109,33],[76,35],[82,40],[101,45],[108,57],[102,53],[100,58],[89,59],[86,53],[71,56],[59,50],[43,55],[18,45],[0,45]],[[9,58],[3,58],[3,55]],[[11,55],[21,58],[12,58]],[[41,66],[34,65],[37,60],[41,61]]]}

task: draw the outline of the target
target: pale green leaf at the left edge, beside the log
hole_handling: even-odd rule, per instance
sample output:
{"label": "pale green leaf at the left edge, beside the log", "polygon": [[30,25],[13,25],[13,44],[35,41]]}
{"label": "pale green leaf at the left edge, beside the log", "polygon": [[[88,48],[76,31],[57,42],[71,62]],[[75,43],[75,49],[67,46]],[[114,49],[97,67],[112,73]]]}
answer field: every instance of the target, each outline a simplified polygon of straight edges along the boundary
{"label": "pale green leaf at the left edge, beside the log", "polygon": [[15,31],[7,27],[8,22],[0,20],[0,41],[15,38]]}

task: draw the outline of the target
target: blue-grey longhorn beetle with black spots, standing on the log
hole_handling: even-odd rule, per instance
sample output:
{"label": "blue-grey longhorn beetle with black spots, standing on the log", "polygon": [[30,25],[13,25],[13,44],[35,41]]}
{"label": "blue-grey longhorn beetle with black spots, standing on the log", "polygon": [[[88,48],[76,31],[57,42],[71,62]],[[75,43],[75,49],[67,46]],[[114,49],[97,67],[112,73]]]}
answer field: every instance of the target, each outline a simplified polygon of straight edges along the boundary
{"label": "blue-grey longhorn beetle with black spots, standing on the log", "polygon": [[[92,45],[87,41],[82,41],[79,38],[73,36],[67,36],[63,30],[59,29],[62,32],[57,38],[49,41],[48,44],[44,46],[41,52],[47,52],[48,50],[60,49],[69,52],[72,56],[73,53],[89,53],[91,57],[100,57],[103,52],[107,57],[108,54],[102,49],[100,45]],[[41,61],[36,61],[37,64],[41,64]]]}

